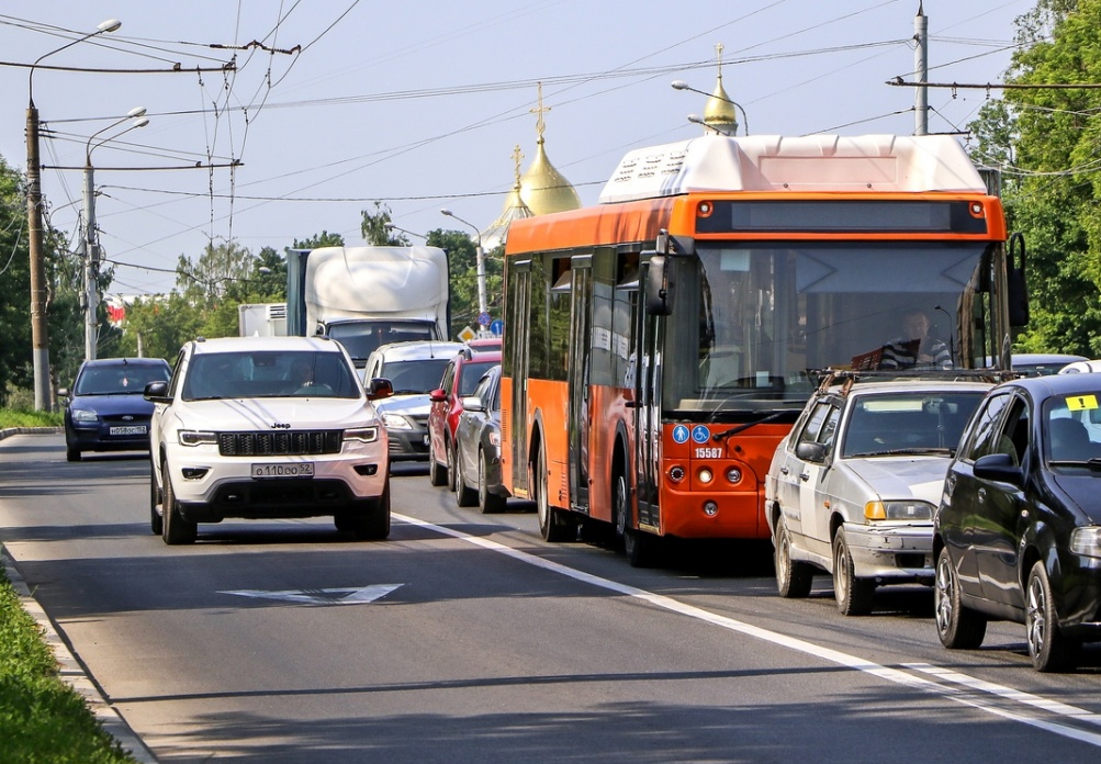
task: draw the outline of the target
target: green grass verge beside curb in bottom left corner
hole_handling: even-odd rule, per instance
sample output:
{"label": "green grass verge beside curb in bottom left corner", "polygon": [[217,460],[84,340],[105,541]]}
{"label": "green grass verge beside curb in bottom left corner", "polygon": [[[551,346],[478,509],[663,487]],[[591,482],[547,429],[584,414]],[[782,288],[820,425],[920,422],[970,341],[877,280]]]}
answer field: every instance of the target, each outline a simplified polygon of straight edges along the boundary
{"label": "green grass verge beside curb in bottom left corner", "polygon": [[0,762],[134,761],[58,677],[53,651],[0,565]]}

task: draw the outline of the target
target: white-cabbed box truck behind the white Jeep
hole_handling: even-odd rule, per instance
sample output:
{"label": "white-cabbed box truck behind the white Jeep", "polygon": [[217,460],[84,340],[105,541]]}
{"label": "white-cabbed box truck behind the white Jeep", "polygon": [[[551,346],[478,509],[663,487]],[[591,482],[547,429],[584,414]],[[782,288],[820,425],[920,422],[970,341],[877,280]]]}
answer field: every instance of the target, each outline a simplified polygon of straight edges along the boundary
{"label": "white-cabbed box truck behind the white Jeep", "polygon": [[362,367],[381,345],[450,337],[447,254],[438,247],[292,251],[287,334],[326,335]]}

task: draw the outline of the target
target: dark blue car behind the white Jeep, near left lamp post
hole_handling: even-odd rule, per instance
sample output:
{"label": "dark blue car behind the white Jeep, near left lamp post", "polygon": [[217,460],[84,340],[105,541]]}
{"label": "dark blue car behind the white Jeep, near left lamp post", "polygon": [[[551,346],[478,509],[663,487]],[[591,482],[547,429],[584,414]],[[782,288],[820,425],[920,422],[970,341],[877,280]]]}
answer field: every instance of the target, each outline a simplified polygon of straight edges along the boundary
{"label": "dark blue car behind the white Jeep, near left lamp post", "polygon": [[65,406],[65,458],[84,451],[149,450],[153,404],[142,395],[150,382],[166,382],[163,358],[102,358],[85,361],[72,390],[58,390]]}

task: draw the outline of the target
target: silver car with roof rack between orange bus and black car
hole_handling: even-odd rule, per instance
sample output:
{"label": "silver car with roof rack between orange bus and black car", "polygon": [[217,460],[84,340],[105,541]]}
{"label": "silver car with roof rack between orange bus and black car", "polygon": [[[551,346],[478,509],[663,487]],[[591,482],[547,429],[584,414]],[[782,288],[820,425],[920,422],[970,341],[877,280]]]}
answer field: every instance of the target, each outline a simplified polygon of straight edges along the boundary
{"label": "silver car with roof rack between orange bus and black car", "polygon": [[825,571],[838,610],[857,615],[871,611],[876,586],[931,585],[945,472],[991,386],[911,379],[820,388],[765,479],[780,594],[806,597]]}

